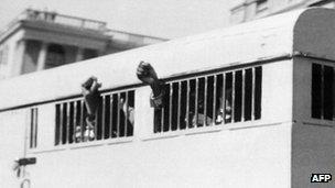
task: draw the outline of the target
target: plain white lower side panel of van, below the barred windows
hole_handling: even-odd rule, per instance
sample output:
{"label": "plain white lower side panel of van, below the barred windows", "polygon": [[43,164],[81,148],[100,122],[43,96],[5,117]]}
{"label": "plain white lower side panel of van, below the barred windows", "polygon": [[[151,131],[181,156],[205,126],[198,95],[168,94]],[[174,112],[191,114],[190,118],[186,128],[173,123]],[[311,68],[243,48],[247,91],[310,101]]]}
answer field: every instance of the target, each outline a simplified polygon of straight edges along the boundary
{"label": "plain white lower side panel of van, below the barred windows", "polygon": [[290,187],[291,124],[31,154],[33,187]]}

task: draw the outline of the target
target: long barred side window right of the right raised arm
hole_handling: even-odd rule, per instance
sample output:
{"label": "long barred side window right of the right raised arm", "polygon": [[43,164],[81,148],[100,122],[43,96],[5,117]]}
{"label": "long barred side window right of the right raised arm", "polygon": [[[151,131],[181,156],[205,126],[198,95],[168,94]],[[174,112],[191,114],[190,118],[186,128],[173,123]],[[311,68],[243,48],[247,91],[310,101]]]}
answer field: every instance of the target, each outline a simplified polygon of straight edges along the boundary
{"label": "long barred side window right of the right raised arm", "polygon": [[165,85],[164,106],[154,109],[154,133],[261,118],[262,67],[212,74]]}

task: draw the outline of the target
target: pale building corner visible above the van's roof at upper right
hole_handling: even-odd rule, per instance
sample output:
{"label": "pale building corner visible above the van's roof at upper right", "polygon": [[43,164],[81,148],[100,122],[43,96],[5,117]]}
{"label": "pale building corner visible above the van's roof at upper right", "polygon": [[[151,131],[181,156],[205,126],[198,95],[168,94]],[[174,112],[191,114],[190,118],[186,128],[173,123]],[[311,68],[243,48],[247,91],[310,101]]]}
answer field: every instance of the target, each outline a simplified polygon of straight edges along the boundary
{"label": "pale building corner visible above the van's roof at upper right", "polygon": [[230,9],[230,24],[278,14],[300,8],[335,8],[334,0],[237,0]]}

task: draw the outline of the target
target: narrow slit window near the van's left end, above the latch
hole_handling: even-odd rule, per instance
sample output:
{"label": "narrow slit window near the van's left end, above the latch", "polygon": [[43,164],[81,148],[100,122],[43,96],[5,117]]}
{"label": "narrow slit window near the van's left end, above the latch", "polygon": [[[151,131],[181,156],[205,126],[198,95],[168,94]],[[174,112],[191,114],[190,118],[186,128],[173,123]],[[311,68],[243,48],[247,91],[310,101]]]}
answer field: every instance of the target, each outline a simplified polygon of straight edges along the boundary
{"label": "narrow slit window near the van's left end, above the latch", "polygon": [[36,148],[37,146],[37,124],[39,124],[39,109],[32,108],[30,109],[30,136],[29,136],[30,148]]}

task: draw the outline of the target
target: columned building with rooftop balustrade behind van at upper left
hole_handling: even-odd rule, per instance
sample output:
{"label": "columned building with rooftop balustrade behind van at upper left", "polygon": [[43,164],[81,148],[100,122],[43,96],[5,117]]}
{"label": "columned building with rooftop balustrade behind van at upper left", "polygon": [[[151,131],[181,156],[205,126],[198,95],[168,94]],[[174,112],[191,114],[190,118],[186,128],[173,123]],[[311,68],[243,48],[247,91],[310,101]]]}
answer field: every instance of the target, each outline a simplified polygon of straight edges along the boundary
{"label": "columned building with rooftop balustrade behind van at upper left", "polygon": [[28,9],[0,32],[0,79],[166,41]]}

